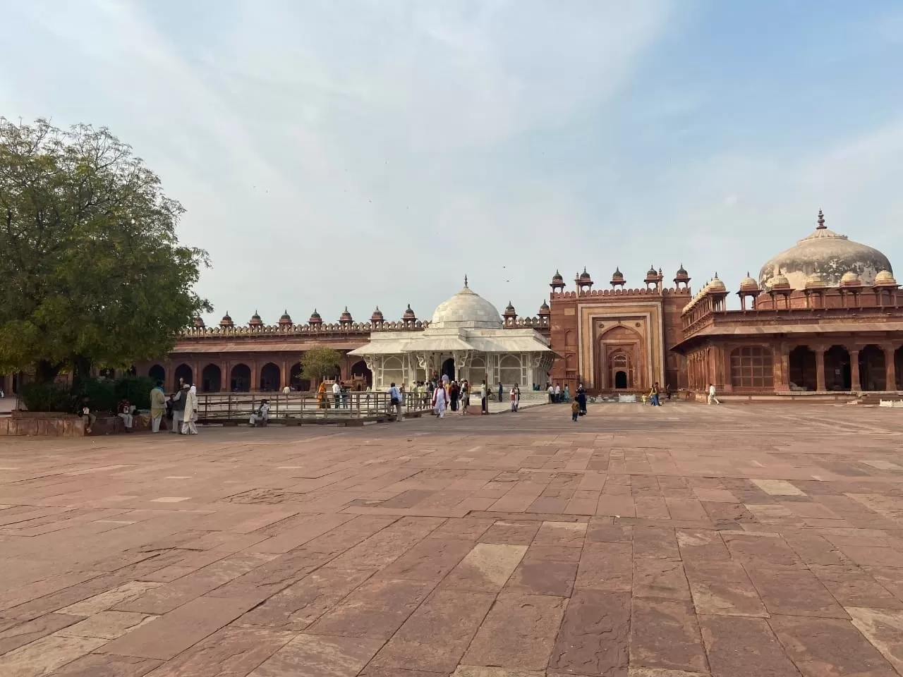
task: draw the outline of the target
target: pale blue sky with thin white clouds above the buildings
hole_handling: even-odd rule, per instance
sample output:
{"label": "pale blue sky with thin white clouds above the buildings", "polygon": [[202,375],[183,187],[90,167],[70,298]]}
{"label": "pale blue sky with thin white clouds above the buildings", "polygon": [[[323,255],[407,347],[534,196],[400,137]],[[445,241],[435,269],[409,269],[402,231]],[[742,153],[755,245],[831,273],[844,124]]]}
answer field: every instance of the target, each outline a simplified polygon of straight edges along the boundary
{"label": "pale blue sky with thin white clouds above the buildings", "polygon": [[[107,126],[237,323],[533,316],[828,227],[903,274],[898,0],[0,0],[0,115]],[[573,283],[569,283],[573,289]]]}

